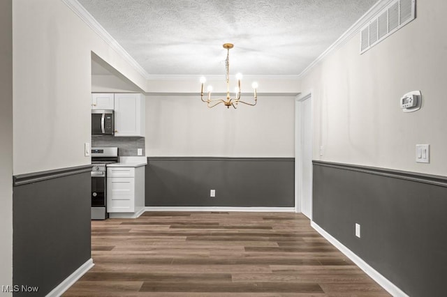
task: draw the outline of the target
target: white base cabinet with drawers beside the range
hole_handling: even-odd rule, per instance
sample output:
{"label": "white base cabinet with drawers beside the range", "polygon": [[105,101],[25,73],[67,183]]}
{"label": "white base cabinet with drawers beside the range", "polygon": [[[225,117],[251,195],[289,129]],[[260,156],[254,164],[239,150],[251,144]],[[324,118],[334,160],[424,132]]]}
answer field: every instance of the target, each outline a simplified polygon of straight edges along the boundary
{"label": "white base cabinet with drawers beside the range", "polygon": [[107,167],[110,218],[135,218],[145,209],[145,166]]}

